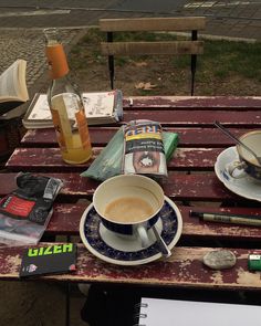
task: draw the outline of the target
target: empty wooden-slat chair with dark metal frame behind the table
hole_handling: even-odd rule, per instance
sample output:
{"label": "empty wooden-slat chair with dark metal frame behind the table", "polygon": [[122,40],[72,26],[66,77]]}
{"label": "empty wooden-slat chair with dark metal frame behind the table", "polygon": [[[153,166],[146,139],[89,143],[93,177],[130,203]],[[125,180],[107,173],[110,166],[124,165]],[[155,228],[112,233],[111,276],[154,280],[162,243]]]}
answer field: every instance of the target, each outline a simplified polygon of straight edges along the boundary
{"label": "empty wooden-slat chair with dark metal frame behind the table", "polygon": [[[100,29],[107,33],[107,42],[102,42],[102,53],[108,56],[111,87],[114,88],[114,56],[116,55],[191,55],[191,92],[194,95],[197,55],[203,53],[203,41],[198,41],[198,30],[205,29],[203,17],[184,18],[133,18],[100,19]],[[157,42],[114,42],[115,32],[187,32],[191,40]]]}

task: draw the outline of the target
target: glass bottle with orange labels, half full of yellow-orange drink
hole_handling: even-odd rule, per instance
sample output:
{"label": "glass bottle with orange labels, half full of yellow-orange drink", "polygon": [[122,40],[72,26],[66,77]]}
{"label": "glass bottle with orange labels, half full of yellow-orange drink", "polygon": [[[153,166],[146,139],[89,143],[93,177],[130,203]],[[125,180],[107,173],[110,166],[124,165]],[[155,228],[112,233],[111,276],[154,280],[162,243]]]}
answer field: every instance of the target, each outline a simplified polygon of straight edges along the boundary
{"label": "glass bottle with orange labels, half full of yellow-orange drink", "polygon": [[62,158],[67,164],[83,164],[92,157],[87,119],[82,96],[70,82],[69,65],[56,29],[45,29],[45,53],[51,85],[48,102]]}

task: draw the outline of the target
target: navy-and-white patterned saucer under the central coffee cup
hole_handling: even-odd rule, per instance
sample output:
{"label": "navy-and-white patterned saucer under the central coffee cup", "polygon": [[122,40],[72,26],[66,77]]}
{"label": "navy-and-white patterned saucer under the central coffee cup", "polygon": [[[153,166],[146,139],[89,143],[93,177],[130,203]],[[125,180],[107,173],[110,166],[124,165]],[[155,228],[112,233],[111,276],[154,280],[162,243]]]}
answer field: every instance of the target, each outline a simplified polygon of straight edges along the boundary
{"label": "navy-and-white patterned saucer under the central coffee cup", "polygon": [[[177,206],[167,197],[156,228],[171,250],[181,235],[182,218]],[[161,257],[152,230],[148,231],[150,245],[144,249],[138,236],[117,235],[107,230],[93,204],[87,207],[81,218],[80,235],[91,253],[112,264],[140,265]]]}

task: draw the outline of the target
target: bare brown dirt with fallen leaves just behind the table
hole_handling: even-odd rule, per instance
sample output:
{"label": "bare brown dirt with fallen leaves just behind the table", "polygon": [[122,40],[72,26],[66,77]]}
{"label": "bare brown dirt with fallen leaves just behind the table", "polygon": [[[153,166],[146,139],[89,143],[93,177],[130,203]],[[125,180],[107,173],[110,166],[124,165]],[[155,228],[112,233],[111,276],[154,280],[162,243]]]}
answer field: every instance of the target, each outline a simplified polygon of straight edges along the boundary
{"label": "bare brown dirt with fallen leaves just behind the table", "polygon": [[[199,69],[198,69],[199,70]],[[137,72],[138,71],[138,72]],[[196,73],[195,96],[259,96],[261,94],[261,83],[253,80],[230,76],[226,80],[199,77]],[[77,73],[77,83],[85,92],[97,90],[111,90],[106,66],[95,66],[90,71]],[[126,66],[115,66],[114,87],[122,90],[124,96],[189,96],[190,95],[190,66],[184,71],[169,71],[169,65],[160,59],[155,66],[155,62],[130,61]],[[97,88],[98,87],[98,88]]]}

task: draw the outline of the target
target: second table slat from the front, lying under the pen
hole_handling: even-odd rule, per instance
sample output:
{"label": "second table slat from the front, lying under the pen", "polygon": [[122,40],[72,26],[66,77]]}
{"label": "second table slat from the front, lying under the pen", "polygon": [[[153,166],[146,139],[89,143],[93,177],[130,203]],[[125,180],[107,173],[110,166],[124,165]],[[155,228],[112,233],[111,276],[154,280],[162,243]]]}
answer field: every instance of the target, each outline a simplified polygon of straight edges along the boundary
{"label": "second table slat from the front, lying under the pen", "polygon": [[[54,212],[45,231],[46,234],[66,234],[79,235],[79,225],[81,217],[88,203],[54,203]],[[232,245],[232,243],[243,243],[261,241],[261,229],[254,227],[226,224],[203,222],[198,218],[191,218],[189,211],[199,212],[216,212],[216,213],[230,213],[230,214],[247,214],[247,215],[260,215],[260,208],[215,208],[209,206],[185,207],[178,204],[178,208],[182,217],[182,238],[189,241],[197,238],[199,244],[202,240],[209,240],[215,245],[217,241],[226,240]]]}

